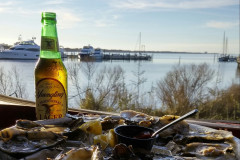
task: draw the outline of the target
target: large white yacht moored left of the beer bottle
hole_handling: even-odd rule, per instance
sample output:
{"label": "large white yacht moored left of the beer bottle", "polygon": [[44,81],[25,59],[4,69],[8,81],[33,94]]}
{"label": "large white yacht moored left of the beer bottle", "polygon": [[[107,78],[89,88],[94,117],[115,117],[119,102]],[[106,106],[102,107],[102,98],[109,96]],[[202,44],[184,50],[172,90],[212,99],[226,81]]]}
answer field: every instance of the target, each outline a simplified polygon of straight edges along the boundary
{"label": "large white yacht moored left of the beer bottle", "polygon": [[0,59],[38,59],[40,46],[33,40],[17,42],[13,47],[0,52]]}

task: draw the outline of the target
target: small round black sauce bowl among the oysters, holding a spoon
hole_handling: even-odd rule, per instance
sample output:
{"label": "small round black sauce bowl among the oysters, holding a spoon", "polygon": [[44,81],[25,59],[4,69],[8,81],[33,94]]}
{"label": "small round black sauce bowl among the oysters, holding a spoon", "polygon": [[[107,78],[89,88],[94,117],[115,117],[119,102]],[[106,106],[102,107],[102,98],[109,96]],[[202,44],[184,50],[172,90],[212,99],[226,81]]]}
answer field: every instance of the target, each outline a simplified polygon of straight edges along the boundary
{"label": "small round black sauce bowl among the oysters, holding a spoon", "polygon": [[141,126],[127,125],[118,126],[114,128],[114,132],[117,135],[118,143],[124,143],[126,145],[132,145],[134,149],[145,149],[151,151],[155,138],[138,139],[133,138],[143,131],[149,131],[151,134],[154,131],[150,128]]}

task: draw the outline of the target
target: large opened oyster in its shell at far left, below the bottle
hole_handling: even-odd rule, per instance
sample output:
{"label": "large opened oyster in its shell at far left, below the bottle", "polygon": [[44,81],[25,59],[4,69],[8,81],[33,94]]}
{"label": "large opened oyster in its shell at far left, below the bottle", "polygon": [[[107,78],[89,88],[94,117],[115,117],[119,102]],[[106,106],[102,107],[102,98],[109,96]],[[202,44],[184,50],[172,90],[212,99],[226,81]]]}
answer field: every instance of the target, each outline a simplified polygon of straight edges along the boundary
{"label": "large opened oyster in its shell at far left, below the bottle", "polygon": [[[55,127],[54,130],[56,130]],[[61,134],[42,125],[27,128],[16,125],[6,128],[0,132],[0,138],[0,150],[13,155],[31,154],[43,148],[52,147],[65,139]]]}

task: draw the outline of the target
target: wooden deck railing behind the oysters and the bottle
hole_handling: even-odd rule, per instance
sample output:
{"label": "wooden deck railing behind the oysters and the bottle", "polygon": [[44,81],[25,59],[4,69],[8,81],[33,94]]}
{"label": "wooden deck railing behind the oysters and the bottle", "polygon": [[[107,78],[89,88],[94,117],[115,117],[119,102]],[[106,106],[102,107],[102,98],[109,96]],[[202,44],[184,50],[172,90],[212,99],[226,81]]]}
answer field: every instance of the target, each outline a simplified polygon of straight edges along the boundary
{"label": "wooden deck railing behind the oysters and the bottle", "polygon": [[[118,113],[71,108],[69,109],[69,113],[118,115]],[[0,129],[14,125],[17,119],[36,120],[35,102],[0,95]],[[214,129],[228,130],[231,131],[234,136],[240,138],[240,121],[203,120],[203,119],[201,120],[188,119],[186,121],[188,123],[198,124]]]}

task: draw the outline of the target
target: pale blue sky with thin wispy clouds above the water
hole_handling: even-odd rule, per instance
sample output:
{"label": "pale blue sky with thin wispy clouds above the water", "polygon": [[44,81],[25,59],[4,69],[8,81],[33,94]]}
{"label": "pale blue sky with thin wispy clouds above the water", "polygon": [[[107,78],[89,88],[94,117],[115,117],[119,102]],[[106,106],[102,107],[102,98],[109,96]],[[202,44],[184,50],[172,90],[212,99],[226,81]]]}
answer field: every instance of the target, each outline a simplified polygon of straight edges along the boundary
{"label": "pale blue sky with thin wispy clouds above the water", "polygon": [[41,39],[41,12],[57,14],[60,45],[239,53],[239,0],[0,0],[0,43]]}

